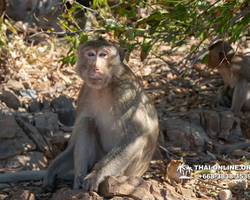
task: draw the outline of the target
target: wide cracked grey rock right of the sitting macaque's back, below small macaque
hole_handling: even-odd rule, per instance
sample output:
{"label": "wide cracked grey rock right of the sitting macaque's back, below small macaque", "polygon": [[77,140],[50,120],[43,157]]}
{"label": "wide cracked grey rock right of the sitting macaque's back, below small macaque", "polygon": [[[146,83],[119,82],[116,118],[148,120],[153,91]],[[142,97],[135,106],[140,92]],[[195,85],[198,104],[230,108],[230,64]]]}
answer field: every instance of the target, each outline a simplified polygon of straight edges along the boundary
{"label": "wide cracked grey rock right of the sitting macaque's back, below small macaque", "polygon": [[[220,131],[221,130],[221,131]],[[242,136],[240,119],[230,111],[191,110],[186,113],[168,113],[160,121],[162,146],[179,147],[182,151],[213,151],[219,139],[235,143]],[[163,144],[162,144],[163,143]]]}

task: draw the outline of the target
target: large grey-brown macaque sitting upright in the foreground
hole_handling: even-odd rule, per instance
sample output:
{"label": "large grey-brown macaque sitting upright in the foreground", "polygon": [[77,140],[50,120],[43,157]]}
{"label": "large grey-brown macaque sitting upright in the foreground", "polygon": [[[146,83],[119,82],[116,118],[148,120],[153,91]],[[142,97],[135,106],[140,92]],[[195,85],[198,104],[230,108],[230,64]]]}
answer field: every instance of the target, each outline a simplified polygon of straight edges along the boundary
{"label": "large grey-brown macaque sitting upright in the foreground", "polygon": [[47,169],[43,188],[74,168],[74,189],[98,190],[106,176],[141,176],[156,148],[157,113],[124,53],[103,38],[80,44],[76,72],[84,80],[68,148]]}

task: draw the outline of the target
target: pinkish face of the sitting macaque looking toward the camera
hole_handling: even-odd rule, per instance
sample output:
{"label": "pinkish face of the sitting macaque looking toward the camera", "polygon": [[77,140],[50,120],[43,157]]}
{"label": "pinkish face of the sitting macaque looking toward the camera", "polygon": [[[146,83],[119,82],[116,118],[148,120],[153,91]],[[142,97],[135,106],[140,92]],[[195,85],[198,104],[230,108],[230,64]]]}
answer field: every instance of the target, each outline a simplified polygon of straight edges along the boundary
{"label": "pinkish face of the sitting macaque looking toward the camera", "polygon": [[89,87],[101,89],[107,86],[112,76],[117,76],[119,68],[120,57],[116,47],[79,48],[76,72]]}

